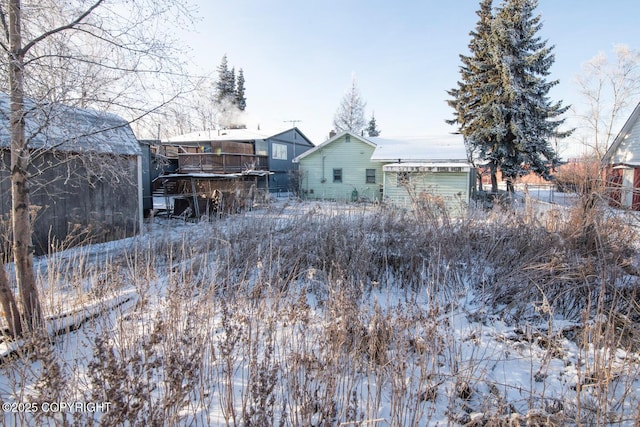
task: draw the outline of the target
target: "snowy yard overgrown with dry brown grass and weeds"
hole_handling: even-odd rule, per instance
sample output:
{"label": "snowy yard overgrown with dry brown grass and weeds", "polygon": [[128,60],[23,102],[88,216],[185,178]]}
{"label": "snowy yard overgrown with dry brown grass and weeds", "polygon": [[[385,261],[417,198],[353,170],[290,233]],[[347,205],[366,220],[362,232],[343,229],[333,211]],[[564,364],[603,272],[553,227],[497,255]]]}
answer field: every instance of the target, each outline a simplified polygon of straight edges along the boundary
{"label": "snowy yard overgrown with dry brown grass and weeds", "polygon": [[405,215],[280,200],[38,259],[57,326],[86,316],[51,345],[1,344],[4,425],[638,425],[632,325],[547,300],[541,263],[513,276],[530,300],[488,303],[510,283],[492,257],[530,256],[500,228],[526,219],[469,230],[473,249]]}

